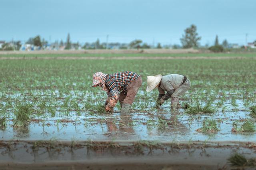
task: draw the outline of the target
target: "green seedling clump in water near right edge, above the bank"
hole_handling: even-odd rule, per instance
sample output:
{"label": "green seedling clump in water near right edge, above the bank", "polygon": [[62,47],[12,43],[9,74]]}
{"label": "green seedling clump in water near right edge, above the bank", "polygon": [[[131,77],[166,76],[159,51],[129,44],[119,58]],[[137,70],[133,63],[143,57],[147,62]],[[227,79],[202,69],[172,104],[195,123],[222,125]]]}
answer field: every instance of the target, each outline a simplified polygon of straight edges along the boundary
{"label": "green seedling clump in water near right edge, above the bank", "polygon": [[249,120],[242,125],[235,121],[231,132],[255,132],[255,125]]}

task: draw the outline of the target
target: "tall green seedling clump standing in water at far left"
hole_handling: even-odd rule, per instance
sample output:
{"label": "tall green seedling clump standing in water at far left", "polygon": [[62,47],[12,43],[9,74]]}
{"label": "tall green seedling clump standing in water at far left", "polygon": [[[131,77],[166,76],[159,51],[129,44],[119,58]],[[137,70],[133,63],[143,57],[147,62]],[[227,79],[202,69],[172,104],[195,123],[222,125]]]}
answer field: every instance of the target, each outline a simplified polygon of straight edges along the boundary
{"label": "tall green seedling clump standing in water at far left", "polygon": [[30,104],[21,104],[16,106],[14,111],[14,126],[22,127],[26,125],[26,122],[30,120],[32,114],[32,105]]}

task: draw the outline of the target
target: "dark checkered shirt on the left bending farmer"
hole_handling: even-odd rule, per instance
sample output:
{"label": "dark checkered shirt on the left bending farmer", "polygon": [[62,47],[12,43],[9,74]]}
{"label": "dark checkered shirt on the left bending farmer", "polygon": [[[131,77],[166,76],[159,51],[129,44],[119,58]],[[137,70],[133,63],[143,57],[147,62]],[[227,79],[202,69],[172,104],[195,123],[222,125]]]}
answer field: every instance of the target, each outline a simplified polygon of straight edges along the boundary
{"label": "dark checkered shirt on the left bending farmer", "polygon": [[106,75],[105,86],[108,89],[108,92],[115,88],[118,89],[118,91],[126,91],[126,87],[139,76],[140,75],[133,73],[132,71],[108,74]]}

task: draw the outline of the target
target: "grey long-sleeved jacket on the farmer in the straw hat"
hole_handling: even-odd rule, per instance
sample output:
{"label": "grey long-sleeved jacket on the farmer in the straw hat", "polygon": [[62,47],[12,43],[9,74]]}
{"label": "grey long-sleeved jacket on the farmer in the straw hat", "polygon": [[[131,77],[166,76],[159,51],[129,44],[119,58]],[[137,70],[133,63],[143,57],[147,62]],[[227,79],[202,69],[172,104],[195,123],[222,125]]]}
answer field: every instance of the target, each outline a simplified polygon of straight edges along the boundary
{"label": "grey long-sleeved jacket on the farmer in the straw hat", "polygon": [[[174,93],[175,89],[177,89],[184,79],[184,75],[179,74],[168,74],[164,75],[160,81],[160,87],[158,87],[159,96],[158,99],[161,97],[164,100],[167,100],[171,97],[172,93]],[[167,93],[165,94],[165,91]]]}

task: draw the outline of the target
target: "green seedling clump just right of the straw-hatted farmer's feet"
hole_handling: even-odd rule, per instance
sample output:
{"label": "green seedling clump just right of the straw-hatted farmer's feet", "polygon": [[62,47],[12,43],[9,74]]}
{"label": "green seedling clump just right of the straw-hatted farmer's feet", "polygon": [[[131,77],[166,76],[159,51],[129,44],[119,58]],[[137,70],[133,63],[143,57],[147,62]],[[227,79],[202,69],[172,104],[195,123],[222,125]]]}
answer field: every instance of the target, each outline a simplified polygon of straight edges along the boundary
{"label": "green seedling clump just right of the straw-hatted farmer's feet", "polygon": [[185,111],[185,113],[196,115],[200,113],[214,113],[215,108],[212,107],[212,101],[209,101],[206,103],[205,106],[200,105],[199,102],[195,106],[188,107]]}

